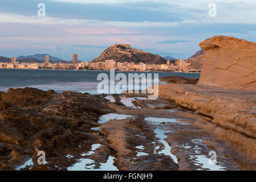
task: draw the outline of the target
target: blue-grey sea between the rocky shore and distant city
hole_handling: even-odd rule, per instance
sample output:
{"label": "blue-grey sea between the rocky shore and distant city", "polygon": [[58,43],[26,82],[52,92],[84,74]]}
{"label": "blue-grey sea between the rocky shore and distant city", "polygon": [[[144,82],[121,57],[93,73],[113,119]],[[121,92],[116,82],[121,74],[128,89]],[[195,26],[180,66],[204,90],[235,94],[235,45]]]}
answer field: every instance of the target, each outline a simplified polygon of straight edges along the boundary
{"label": "blue-grey sea between the rocky shore and distant city", "polygon": [[[97,94],[97,75],[108,71],[68,71],[68,70],[28,70],[28,69],[0,69],[0,90],[6,92],[9,88],[24,88],[26,86],[41,90],[54,89],[55,92],[88,92]],[[124,73],[128,78],[128,73],[143,72],[115,72]],[[166,76],[183,76],[198,78],[200,73],[164,73],[164,72],[144,72],[159,73],[159,78]],[[141,84],[139,89],[145,89],[146,85]],[[135,88],[138,89],[138,88]]]}

